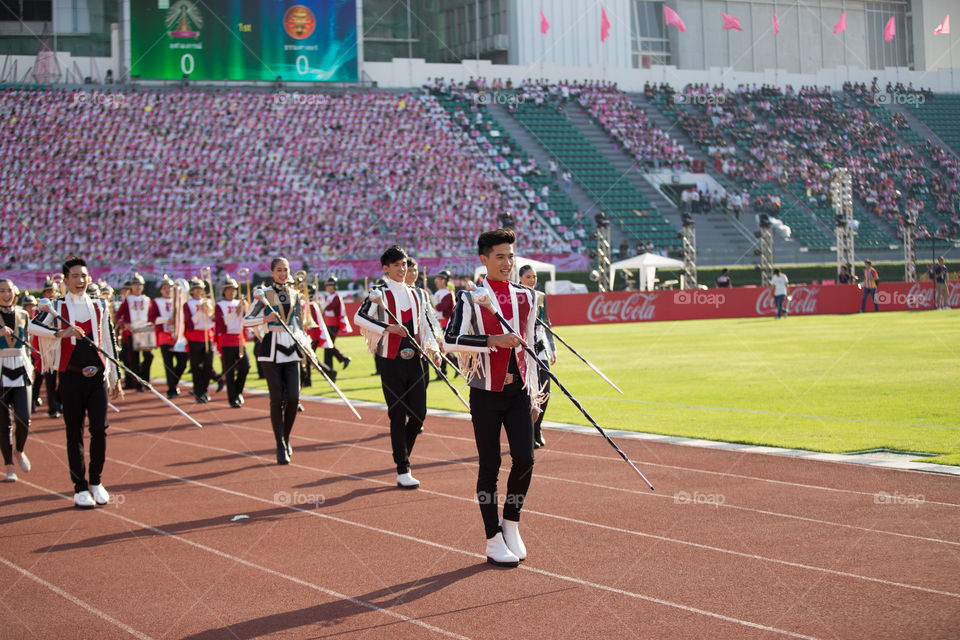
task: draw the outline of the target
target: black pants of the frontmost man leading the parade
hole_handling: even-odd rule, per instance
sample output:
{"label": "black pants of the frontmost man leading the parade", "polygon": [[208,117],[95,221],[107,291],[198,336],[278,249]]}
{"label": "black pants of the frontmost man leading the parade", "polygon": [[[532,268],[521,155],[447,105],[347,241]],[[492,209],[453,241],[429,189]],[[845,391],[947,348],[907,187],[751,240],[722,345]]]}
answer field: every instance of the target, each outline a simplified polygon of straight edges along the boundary
{"label": "black pants of the frontmost man leading the parade", "polygon": [[487,538],[499,531],[497,510],[497,474],[500,472],[500,426],[507,432],[512,466],[507,477],[504,520],[519,521],[520,509],[533,476],[533,421],[530,396],[521,382],[503,391],[485,391],[470,387],[470,416],[477,442],[479,470],[477,501]]}

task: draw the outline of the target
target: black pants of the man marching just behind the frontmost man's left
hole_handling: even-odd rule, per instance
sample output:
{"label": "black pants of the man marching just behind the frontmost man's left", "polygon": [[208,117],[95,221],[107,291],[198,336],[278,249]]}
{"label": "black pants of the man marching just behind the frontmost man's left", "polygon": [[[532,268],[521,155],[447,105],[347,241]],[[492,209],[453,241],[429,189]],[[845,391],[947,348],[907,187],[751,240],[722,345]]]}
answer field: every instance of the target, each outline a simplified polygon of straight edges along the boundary
{"label": "black pants of the man marching just behind the frontmost man's left", "polygon": [[404,360],[376,356],[380,386],[390,418],[390,444],[397,473],[410,471],[410,452],[427,417],[427,385],[420,356]]}

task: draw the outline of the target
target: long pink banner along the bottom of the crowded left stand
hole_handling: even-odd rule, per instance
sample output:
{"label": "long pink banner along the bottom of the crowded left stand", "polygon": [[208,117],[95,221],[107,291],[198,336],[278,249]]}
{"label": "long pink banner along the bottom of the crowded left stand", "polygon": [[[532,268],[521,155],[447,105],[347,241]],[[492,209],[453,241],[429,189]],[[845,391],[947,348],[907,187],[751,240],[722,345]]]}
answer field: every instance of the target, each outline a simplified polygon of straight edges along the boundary
{"label": "long pink banner along the bottom of the crowded left stand", "polygon": [[[415,256],[417,257],[417,256]],[[536,260],[538,262],[547,262],[556,267],[557,271],[585,271],[590,268],[590,259],[579,253],[564,254],[530,254],[524,257]],[[441,258],[419,258],[421,271],[425,270],[427,276],[435,275],[437,272],[446,269],[454,275],[473,276],[479,260],[475,255],[441,257]],[[294,260],[291,268],[297,270],[301,268],[303,262]],[[214,273],[229,273],[236,276],[237,269],[247,267],[251,273],[267,273],[270,271],[270,261],[263,262],[230,262],[224,264],[216,263],[197,263],[197,264],[168,264],[168,265],[118,265],[118,266],[93,266],[90,268],[90,274],[94,281],[106,280],[112,286],[119,286],[124,280],[130,277],[134,271],[143,274],[147,280],[159,280],[163,274],[171,278],[190,279],[200,272],[200,267],[210,265],[214,268]],[[325,280],[334,276],[341,280],[359,280],[361,278],[379,278],[382,274],[379,260],[310,260],[307,261],[310,267],[311,276],[314,273],[320,274],[320,279]],[[14,284],[21,289],[39,289],[43,286],[45,278],[59,269],[32,269],[32,270],[6,270],[0,271],[0,277],[10,278]],[[220,279],[219,277],[217,278]]]}

